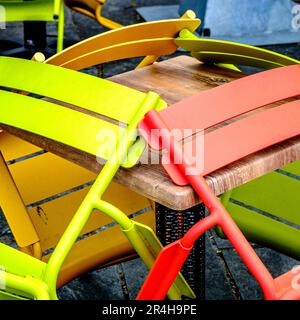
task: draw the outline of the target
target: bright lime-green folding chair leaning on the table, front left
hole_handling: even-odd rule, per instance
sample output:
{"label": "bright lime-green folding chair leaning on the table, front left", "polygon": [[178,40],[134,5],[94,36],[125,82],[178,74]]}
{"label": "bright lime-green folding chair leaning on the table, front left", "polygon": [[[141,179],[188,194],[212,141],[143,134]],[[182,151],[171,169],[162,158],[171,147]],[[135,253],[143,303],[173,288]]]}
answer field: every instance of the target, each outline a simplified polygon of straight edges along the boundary
{"label": "bright lime-green folding chair leaning on the table, front left", "polygon": [[[154,232],[130,220],[118,208],[104,201],[102,195],[120,166],[133,166],[144,150],[143,140],[136,139],[138,122],[150,109],[164,108],[165,102],[155,93],[144,94],[76,71],[6,57],[0,57],[0,86],[3,88],[0,90],[2,124],[107,160],[47,263],[1,244],[0,265],[4,268],[6,282],[2,296],[56,299],[59,271],[94,209],[120,225],[150,268],[161,250]],[[17,92],[11,92],[12,89]],[[34,95],[19,94],[23,91]],[[39,96],[54,100],[41,100]],[[59,101],[88,112],[61,106],[57,104]],[[101,114],[101,118],[91,113]],[[119,127],[106,118],[121,121],[127,127]],[[181,296],[194,297],[194,294],[179,275],[169,297],[179,299]]]}

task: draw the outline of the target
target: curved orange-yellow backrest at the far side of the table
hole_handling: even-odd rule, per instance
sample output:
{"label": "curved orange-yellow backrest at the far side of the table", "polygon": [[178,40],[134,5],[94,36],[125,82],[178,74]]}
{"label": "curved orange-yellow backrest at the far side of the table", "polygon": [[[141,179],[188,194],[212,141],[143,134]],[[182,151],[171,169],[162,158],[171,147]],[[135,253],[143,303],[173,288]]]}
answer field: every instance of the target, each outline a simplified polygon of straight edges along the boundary
{"label": "curved orange-yellow backrest at the far side of the table", "polygon": [[174,38],[183,29],[197,29],[200,20],[190,17],[146,22],[101,33],[50,57],[46,63],[80,70],[118,59],[161,56],[176,51]]}

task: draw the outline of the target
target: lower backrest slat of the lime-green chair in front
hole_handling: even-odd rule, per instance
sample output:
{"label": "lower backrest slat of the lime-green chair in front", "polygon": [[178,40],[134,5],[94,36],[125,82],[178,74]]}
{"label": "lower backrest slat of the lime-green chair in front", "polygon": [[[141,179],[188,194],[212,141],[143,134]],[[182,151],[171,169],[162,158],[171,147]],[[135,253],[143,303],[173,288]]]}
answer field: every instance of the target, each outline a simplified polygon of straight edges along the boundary
{"label": "lower backrest slat of the lime-green chair in front", "polygon": [[[100,158],[107,159],[105,150],[111,150],[125,128],[118,127],[90,115],[40,99],[0,90],[1,120],[6,125],[30,131],[64,143]],[[112,139],[97,141],[101,129],[109,130]],[[101,151],[100,150],[101,146]]]}

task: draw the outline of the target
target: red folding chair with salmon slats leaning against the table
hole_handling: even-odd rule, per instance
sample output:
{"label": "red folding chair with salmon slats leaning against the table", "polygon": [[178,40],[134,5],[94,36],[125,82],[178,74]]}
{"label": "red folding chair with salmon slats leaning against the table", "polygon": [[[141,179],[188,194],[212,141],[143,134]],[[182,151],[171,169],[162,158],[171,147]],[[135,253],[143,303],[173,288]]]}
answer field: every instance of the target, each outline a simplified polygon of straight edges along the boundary
{"label": "red folding chair with salmon slats leaning against the table", "polygon": [[[178,185],[190,184],[210,214],[161,251],[137,299],[163,299],[195,241],[216,225],[224,230],[260,284],[265,299],[300,299],[300,285],[292,285],[295,272],[272,277],[204,178],[236,160],[299,135],[300,100],[262,109],[300,95],[299,83],[300,66],[283,67],[202,92],[161,112],[146,114],[139,125],[141,135],[151,148],[165,150],[162,165],[169,176]],[[254,110],[257,112],[247,114]],[[225,126],[212,128],[241,115]],[[201,131],[208,128],[211,130],[201,138]],[[185,140],[191,135],[192,139]]]}

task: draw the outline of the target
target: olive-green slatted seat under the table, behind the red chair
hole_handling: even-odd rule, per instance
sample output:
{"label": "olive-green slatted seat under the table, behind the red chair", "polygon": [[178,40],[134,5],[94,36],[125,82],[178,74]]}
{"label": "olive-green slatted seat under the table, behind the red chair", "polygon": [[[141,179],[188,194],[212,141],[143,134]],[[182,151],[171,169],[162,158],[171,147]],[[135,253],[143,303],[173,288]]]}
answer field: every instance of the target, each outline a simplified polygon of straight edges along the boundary
{"label": "olive-green slatted seat under the table, behind the red chair", "polygon": [[[300,260],[300,161],[248,182],[221,200],[246,238]],[[225,234],[220,228],[217,233]]]}

